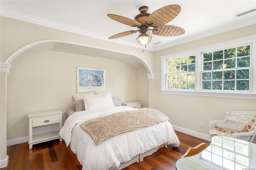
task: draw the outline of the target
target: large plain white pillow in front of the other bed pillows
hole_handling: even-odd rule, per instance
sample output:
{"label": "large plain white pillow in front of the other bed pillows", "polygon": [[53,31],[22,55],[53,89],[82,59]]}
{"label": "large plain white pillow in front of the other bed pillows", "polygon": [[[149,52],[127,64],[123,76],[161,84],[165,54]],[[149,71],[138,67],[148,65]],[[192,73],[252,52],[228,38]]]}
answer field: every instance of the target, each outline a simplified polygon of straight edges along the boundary
{"label": "large plain white pillow in front of the other bed pillows", "polygon": [[84,95],[84,107],[87,111],[104,107],[114,107],[114,103],[110,94]]}

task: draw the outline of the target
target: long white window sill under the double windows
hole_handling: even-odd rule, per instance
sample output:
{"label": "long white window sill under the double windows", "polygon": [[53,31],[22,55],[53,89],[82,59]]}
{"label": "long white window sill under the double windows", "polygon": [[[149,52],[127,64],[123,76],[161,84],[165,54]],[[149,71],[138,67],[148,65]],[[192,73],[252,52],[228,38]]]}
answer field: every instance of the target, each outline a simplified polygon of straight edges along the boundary
{"label": "long white window sill under the double windows", "polygon": [[191,95],[191,96],[205,96],[205,97],[225,97],[235,99],[251,99],[256,100],[256,94],[252,93],[220,93],[220,92],[205,92],[205,91],[174,91],[161,90],[162,94],[172,95]]}

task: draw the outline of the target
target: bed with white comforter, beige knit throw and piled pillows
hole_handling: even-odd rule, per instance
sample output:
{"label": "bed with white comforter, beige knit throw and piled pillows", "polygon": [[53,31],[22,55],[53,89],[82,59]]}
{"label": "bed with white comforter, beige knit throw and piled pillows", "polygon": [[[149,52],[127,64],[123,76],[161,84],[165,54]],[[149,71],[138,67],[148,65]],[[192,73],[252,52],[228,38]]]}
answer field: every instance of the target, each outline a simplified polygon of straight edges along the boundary
{"label": "bed with white comforter, beige knit throw and piled pillows", "polygon": [[[140,114],[137,115],[143,117],[145,115],[151,116],[151,114],[147,114],[148,109],[146,108],[134,109],[120,106],[120,100],[113,98],[109,92],[95,94],[97,93],[79,94],[79,97],[73,95],[74,102],[79,101],[80,106],[76,105],[77,103],[74,104],[75,109],[69,111],[68,118],[60,130],[60,137],[65,141],[66,146],[70,146],[72,152],[77,155],[83,170],[123,169],[134,162],[143,161],[145,156],[153,154],[160,147],[166,147],[166,145],[178,147],[180,145],[168,119],[132,130],[124,129],[118,134],[111,134],[112,136],[106,135],[104,129],[107,125],[98,130],[95,128],[96,123],[100,123],[100,125],[112,123],[110,128],[114,128],[114,130],[108,130],[112,132],[117,131],[114,124],[124,125],[121,123],[122,119],[132,117],[135,112],[139,112]],[[84,106],[81,106],[83,103]],[[150,111],[154,111],[154,109]],[[157,114],[165,116],[163,113]],[[109,117],[115,117],[113,118],[115,121],[109,121]],[[145,119],[147,118],[145,117]],[[132,120],[136,120],[134,122],[138,123],[140,122],[138,120],[144,119],[137,120],[134,118]],[[92,127],[86,127],[88,125],[92,125]],[[132,127],[132,125],[124,127]],[[105,138],[100,138],[97,141],[99,138],[97,135],[92,135],[92,131],[104,132]]]}

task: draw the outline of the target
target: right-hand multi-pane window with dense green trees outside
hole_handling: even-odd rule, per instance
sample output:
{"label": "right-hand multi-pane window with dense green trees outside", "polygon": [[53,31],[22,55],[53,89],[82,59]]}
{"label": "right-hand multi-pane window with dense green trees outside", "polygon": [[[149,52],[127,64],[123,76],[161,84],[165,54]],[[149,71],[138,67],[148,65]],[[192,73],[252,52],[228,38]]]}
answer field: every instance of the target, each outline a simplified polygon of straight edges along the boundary
{"label": "right-hand multi-pane window with dense green trees outside", "polygon": [[250,91],[250,45],[202,53],[202,89]]}

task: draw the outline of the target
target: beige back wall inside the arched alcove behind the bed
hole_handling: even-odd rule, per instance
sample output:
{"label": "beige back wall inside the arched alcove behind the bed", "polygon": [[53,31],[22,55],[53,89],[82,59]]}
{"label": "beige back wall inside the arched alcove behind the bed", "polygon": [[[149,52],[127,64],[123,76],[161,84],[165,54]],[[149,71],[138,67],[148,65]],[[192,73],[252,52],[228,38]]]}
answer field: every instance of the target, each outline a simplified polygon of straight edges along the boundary
{"label": "beige back wall inside the arched alcove behind the bed", "polygon": [[8,74],[7,140],[28,136],[30,112],[60,109],[66,120],[76,93],[76,67],[105,69],[106,91],[122,101],[137,99],[137,69],[121,61],[56,51],[24,53],[12,61]]}

